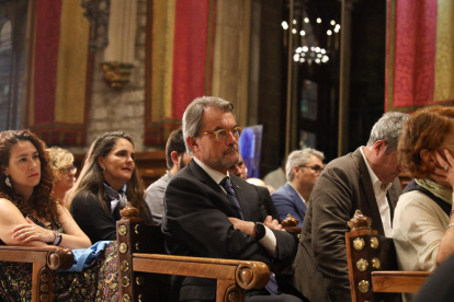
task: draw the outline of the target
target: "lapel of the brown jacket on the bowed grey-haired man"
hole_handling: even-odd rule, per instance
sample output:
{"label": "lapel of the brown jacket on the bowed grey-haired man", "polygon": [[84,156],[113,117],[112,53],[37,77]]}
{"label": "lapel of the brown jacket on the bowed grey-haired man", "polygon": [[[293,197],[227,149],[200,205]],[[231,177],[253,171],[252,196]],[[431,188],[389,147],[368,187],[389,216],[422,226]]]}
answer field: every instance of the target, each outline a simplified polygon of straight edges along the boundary
{"label": "lapel of the brown jacket on the bowed grey-haired man", "polygon": [[[383,229],[382,217],[379,216],[377,200],[375,199],[374,188],[372,187],[371,175],[368,174],[367,165],[364,162],[360,148],[353,152],[352,156],[356,161],[357,169],[361,171],[361,182],[363,183],[364,191],[367,196],[367,205],[371,209],[372,223],[375,225],[378,233],[384,235],[385,230]],[[362,202],[362,200],[360,200],[360,202]]]}

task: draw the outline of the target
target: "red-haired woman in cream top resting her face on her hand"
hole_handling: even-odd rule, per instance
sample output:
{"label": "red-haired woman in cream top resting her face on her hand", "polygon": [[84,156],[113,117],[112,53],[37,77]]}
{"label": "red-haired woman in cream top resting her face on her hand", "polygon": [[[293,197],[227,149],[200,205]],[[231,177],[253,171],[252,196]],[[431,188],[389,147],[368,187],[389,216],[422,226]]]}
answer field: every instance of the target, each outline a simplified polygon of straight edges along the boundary
{"label": "red-haired woman in cream top resting her face on her hand", "polygon": [[415,179],[399,197],[393,221],[402,270],[431,271],[454,253],[453,156],[454,107],[425,107],[409,117],[398,160]]}

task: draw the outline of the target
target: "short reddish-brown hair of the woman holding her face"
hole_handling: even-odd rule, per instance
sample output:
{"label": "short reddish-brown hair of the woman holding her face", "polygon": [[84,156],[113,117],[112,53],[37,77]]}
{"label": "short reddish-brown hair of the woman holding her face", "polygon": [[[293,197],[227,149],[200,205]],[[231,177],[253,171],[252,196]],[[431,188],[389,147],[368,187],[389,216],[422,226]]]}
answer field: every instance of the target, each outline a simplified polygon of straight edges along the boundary
{"label": "short reddish-brown hair of the woman holding her face", "polygon": [[421,158],[421,151],[435,151],[454,130],[454,108],[424,107],[413,113],[404,126],[397,148],[397,159],[412,178],[425,178],[431,166]]}

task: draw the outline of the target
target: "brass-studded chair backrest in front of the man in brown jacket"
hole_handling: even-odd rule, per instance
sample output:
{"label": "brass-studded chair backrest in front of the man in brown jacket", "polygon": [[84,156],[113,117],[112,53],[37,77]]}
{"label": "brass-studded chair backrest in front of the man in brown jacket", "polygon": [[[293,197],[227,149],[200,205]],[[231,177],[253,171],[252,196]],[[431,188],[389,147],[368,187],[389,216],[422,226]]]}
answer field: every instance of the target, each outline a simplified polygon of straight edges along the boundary
{"label": "brass-studded chair backrest in front of the man in brown jacket", "polygon": [[345,233],[352,301],[400,301],[400,294],[374,291],[372,272],[398,267],[393,239],[378,235],[371,222],[356,210],[349,222],[351,231]]}

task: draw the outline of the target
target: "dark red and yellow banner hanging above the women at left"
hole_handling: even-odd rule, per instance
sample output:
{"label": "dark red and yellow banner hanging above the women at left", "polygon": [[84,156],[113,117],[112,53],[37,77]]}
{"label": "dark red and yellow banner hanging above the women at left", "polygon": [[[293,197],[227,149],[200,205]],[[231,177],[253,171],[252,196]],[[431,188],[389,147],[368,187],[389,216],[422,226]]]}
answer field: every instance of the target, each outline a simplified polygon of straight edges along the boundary
{"label": "dark red and yellow banner hanging above the women at left", "polygon": [[29,128],[47,144],[84,146],[90,24],[80,0],[36,0]]}

